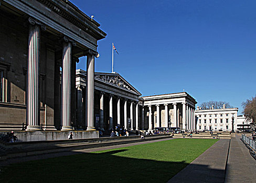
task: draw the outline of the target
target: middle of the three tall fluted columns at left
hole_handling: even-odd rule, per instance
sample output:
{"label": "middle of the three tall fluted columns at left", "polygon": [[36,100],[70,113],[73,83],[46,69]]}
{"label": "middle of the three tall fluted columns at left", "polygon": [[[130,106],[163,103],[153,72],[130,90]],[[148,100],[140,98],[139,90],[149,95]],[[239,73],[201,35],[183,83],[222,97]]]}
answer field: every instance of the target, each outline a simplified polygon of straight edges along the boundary
{"label": "middle of the three tall fluted columns at left", "polygon": [[64,40],[62,52],[62,131],[73,130],[71,127],[71,47],[72,44],[76,45],[67,36],[64,37]]}

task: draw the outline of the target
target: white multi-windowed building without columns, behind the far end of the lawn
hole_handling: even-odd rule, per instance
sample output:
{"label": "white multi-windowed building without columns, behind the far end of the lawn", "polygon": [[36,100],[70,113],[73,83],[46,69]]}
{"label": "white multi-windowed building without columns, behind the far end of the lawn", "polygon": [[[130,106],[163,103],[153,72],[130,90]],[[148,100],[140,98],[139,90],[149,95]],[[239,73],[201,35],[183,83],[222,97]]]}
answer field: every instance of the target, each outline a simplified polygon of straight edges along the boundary
{"label": "white multi-windowed building without columns, behind the far end of the lawn", "polygon": [[232,117],[234,129],[237,130],[237,112],[238,108],[225,108],[221,109],[201,110],[197,107],[195,111],[196,130],[213,130],[213,131],[231,131],[232,130]]}

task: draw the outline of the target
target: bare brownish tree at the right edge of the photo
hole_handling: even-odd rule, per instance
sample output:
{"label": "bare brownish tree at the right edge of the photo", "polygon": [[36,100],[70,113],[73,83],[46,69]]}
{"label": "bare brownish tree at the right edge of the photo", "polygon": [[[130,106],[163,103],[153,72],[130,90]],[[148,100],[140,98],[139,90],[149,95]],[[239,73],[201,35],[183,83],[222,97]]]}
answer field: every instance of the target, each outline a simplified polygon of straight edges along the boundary
{"label": "bare brownish tree at the right edge of the photo", "polygon": [[255,129],[255,123],[256,123],[256,96],[242,102],[242,106],[243,106],[243,115],[246,117],[246,119],[248,121],[252,120],[252,123],[254,125],[254,129]]}

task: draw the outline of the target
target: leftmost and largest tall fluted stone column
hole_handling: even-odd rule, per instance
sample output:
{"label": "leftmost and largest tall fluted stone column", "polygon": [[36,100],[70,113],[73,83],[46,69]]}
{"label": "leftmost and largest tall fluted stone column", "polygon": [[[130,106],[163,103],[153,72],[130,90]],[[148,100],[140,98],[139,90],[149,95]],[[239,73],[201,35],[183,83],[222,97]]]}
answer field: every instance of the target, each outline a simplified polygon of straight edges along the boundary
{"label": "leftmost and largest tall fluted stone column", "polygon": [[46,27],[33,18],[28,19],[28,69],[27,69],[27,131],[41,130],[39,113],[39,47],[40,47],[40,27]]}

